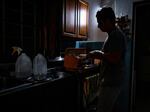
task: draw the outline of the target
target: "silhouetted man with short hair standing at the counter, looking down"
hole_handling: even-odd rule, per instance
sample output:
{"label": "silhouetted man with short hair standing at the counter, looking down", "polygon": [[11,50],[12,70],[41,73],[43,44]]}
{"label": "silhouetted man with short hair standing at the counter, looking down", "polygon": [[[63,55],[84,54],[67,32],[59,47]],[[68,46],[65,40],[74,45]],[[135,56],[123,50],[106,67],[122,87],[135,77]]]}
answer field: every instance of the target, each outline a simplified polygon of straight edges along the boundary
{"label": "silhouetted man with short hair standing at the counter, looking down", "polygon": [[100,59],[103,78],[99,87],[97,112],[112,112],[122,89],[124,75],[124,60],[126,52],[126,37],[116,26],[116,16],[111,7],[104,7],[96,14],[98,28],[106,32],[106,38],[101,50],[93,50],[88,57]]}

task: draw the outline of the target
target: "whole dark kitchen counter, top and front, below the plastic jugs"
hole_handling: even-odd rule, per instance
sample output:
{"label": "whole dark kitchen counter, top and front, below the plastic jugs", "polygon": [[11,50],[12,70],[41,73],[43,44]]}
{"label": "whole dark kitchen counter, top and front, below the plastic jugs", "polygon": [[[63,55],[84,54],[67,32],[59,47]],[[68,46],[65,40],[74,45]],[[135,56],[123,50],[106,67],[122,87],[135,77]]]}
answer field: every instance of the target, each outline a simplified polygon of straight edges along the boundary
{"label": "whole dark kitchen counter, top and front, below the plastic jugs", "polygon": [[83,83],[98,70],[95,65],[76,71],[50,68],[44,80],[35,80],[32,75],[18,79],[14,77],[15,73],[3,74],[0,78],[0,105],[5,111],[15,112],[20,112],[19,108],[36,112],[84,112]]}

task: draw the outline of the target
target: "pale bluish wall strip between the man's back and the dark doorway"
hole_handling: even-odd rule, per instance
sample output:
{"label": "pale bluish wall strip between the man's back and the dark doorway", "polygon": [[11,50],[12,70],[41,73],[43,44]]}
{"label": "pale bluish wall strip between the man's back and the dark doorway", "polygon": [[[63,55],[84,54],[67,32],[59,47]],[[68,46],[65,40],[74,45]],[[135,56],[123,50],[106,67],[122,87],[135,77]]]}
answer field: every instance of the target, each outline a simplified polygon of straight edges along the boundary
{"label": "pale bluish wall strip between the man's back and the dark doorway", "polygon": [[[128,15],[131,19],[130,30],[132,31],[132,6],[133,0],[115,0],[115,13],[116,17]],[[120,96],[120,110],[122,112],[129,112],[131,109],[130,105],[130,81],[131,81],[131,40],[132,37],[127,41],[127,52],[126,52],[126,75],[124,76],[124,89]]]}

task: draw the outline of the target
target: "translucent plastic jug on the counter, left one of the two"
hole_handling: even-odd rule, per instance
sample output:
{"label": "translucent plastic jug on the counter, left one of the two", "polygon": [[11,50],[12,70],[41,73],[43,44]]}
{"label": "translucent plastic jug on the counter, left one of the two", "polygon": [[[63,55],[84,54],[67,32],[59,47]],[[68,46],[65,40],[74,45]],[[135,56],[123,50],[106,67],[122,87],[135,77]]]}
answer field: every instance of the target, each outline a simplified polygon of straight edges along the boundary
{"label": "translucent plastic jug on the counter, left one of the two", "polygon": [[16,61],[15,64],[16,76],[23,78],[31,75],[32,73],[32,61],[29,56],[22,53]]}

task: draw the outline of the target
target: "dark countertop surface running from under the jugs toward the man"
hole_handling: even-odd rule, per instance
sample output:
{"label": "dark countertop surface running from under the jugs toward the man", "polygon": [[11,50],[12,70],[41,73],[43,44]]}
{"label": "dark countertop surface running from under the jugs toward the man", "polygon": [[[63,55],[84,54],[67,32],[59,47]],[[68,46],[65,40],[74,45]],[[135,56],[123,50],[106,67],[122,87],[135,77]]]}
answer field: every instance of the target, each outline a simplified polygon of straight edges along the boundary
{"label": "dark countertop surface running from under the jugs toward the man", "polygon": [[79,78],[88,77],[90,75],[93,75],[93,73],[97,73],[98,70],[99,67],[96,65],[89,65],[84,67],[83,69],[78,69],[75,71],[66,71],[64,68],[61,70],[57,68],[50,68],[46,78],[44,78],[43,80],[36,80],[33,74],[29,75],[26,78],[18,78],[16,76],[20,74],[16,74],[13,72],[1,73],[0,96],[41,84],[52,83],[67,77],[71,77],[73,75],[76,75]]}

